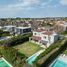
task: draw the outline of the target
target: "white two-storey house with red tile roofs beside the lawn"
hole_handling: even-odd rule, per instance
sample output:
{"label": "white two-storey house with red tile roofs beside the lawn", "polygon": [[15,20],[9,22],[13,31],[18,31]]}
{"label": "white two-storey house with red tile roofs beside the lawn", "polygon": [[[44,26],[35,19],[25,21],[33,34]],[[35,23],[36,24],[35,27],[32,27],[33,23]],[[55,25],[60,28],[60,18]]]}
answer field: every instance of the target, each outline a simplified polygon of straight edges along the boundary
{"label": "white two-storey house with red tile roofs beside the lawn", "polygon": [[59,36],[54,31],[48,31],[45,29],[37,29],[33,31],[32,41],[38,44],[43,44],[48,47],[50,44],[56,42]]}

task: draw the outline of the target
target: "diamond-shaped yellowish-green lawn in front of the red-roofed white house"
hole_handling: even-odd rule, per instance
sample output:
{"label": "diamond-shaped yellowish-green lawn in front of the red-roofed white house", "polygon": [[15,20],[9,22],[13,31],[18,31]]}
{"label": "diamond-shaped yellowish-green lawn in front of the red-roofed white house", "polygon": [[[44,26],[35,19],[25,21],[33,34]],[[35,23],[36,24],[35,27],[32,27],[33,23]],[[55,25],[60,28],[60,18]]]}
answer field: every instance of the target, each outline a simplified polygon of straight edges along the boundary
{"label": "diamond-shaped yellowish-green lawn in front of the red-roofed white house", "polygon": [[25,54],[27,57],[31,56],[32,54],[42,49],[37,44],[31,43],[31,42],[25,42],[23,44],[14,46],[14,48],[18,49],[20,53]]}

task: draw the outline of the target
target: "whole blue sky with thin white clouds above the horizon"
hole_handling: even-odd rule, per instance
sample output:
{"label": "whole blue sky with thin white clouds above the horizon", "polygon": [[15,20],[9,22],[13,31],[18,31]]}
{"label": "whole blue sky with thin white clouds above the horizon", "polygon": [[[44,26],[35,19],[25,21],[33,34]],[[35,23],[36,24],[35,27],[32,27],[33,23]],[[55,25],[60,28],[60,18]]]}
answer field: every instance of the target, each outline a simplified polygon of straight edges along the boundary
{"label": "whole blue sky with thin white clouds above the horizon", "polygon": [[67,17],[67,0],[0,0],[0,18]]}

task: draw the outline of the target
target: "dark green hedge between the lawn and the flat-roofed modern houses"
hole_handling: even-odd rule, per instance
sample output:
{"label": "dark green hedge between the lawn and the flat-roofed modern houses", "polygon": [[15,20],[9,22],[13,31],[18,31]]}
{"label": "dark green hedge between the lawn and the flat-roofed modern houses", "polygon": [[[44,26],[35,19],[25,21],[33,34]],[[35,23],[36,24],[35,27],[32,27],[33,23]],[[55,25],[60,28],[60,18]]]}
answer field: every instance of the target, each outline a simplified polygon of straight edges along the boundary
{"label": "dark green hedge between the lawn and the flat-roofed modern houses", "polygon": [[4,46],[15,46],[29,40],[29,37],[32,36],[32,33],[14,36],[11,39],[7,40]]}

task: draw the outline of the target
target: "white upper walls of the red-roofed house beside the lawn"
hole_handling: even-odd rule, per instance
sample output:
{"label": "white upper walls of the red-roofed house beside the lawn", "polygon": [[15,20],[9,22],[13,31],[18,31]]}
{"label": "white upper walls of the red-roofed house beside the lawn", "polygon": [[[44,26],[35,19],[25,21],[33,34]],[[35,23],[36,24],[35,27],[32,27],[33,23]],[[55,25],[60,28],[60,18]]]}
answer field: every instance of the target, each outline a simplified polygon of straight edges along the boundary
{"label": "white upper walls of the red-roofed house beside the lawn", "polygon": [[47,41],[49,44],[52,44],[55,41],[57,41],[59,37],[58,34],[44,35],[44,34],[41,34],[41,32],[35,32],[35,31],[33,31],[33,36],[39,36],[41,37],[41,40]]}

